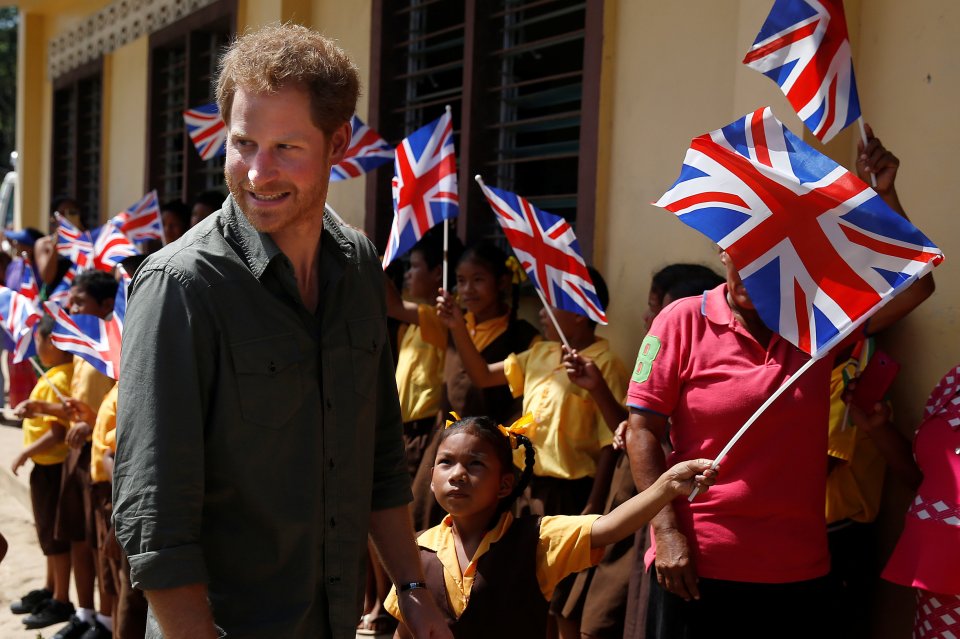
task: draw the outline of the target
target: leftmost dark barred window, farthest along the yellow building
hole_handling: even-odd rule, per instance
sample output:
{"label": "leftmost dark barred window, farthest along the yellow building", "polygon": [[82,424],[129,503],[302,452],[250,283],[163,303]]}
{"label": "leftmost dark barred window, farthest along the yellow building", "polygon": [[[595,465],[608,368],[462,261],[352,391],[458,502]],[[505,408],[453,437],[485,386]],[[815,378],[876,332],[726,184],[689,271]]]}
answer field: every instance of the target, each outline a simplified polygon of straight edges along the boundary
{"label": "leftmost dark barred window, farthest along the yellow building", "polygon": [[98,61],[59,78],[53,90],[50,197],[75,199],[87,226],[100,217],[102,77]]}

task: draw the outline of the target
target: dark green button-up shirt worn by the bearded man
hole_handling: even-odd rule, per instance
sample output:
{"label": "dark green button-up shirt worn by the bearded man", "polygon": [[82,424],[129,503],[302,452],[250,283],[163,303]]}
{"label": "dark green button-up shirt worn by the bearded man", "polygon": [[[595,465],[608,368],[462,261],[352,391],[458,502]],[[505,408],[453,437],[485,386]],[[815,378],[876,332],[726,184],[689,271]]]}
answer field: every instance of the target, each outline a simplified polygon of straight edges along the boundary
{"label": "dark green button-up shirt worn by the bearded man", "polygon": [[228,197],[130,286],[117,539],[228,636],[353,637],[370,513],[411,497],[376,248],[324,214],[318,259],[314,311]]}

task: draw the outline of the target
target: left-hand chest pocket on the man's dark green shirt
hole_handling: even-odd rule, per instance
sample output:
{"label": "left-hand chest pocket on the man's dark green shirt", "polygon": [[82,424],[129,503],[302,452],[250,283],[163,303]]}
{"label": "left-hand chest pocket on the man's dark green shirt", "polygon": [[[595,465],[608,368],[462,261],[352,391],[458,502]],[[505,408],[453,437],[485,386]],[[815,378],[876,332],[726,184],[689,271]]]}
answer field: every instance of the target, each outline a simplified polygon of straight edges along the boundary
{"label": "left-hand chest pocket on the man's dark green shirt", "polygon": [[243,418],[279,429],[304,400],[304,353],[292,335],[276,335],[230,345]]}

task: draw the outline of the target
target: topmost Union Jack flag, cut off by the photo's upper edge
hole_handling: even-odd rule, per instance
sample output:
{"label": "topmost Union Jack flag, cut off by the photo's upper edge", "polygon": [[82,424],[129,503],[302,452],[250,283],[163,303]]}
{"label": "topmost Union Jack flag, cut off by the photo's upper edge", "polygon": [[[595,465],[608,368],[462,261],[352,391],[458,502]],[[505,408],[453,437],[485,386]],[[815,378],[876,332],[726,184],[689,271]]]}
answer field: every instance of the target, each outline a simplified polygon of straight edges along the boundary
{"label": "topmost Union Jack flag, cut off by the photo's upper edge", "polygon": [[780,86],[821,142],[860,117],[842,0],[776,0],[743,63]]}

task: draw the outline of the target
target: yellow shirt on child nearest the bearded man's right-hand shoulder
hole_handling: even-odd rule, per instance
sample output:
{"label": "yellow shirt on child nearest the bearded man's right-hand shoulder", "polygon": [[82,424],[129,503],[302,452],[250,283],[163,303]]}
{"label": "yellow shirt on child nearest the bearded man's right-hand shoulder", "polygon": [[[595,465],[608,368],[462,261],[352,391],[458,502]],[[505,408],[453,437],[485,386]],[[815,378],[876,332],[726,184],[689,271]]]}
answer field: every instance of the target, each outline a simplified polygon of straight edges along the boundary
{"label": "yellow shirt on child nearest the bearded man's right-hand shoulder", "polygon": [[417,313],[419,326],[400,329],[397,392],[404,422],[436,415],[443,392],[447,327],[437,317],[437,309],[433,306],[421,304]]}

